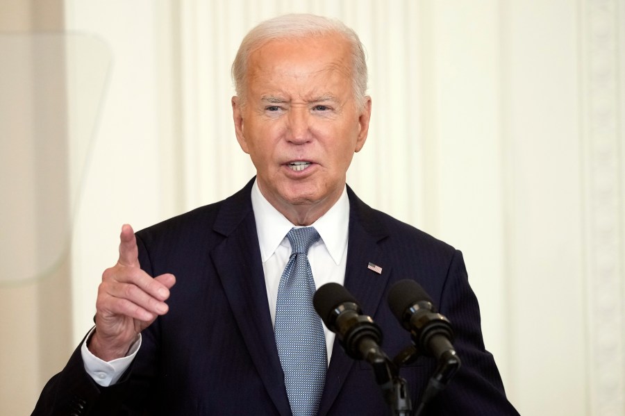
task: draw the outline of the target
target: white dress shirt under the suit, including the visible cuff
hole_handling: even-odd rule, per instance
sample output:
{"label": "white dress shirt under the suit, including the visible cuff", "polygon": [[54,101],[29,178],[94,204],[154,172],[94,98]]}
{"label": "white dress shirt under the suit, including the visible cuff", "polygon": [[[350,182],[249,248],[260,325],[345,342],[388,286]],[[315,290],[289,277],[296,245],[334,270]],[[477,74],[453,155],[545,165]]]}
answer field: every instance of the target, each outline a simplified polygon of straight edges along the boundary
{"label": "white dress shirt under the suit, including the visible cuff", "polygon": [[[256,219],[260,258],[263,261],[263,272],[265,273],[269,313],[272,322],[275,322],[278,285],[291,255],[291,244],[286,235],[294,225],[263,197],[256,182],[254,182],[251,190],[251,202]],[[316,287],[319,288],[330,282],[342,285],[345,280],[345,267],[347,265],[347,233],[349,227],[347,188],[343,188],[343,193],[334,206],[311,226],[314,226],[321,236],[308,249],[308,262],[310,269],[313,270]],[[94,356],[87,348],[87,340],[93,331],[94,329],[85,338],[85,342],[81,346],[81,355],[85,371],[96,383],[107,387],[117,383],[128,366],[131,365],[141,347],[141,334],[128,351],[128,356],[106,362]],[[329,363],[335,334],[329,331],[325,325],[324,334],[326,335]]]}

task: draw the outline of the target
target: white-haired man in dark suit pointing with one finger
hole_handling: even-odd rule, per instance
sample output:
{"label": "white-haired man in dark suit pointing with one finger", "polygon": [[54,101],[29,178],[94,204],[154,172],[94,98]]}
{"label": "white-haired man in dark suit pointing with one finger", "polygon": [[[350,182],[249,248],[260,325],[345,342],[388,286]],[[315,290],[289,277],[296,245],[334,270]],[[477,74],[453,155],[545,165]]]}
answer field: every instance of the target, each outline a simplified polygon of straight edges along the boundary
{"label": "white-haired man in dark suit pointing with one finger", "polygon": [[[411,277],[451,319],[463,363],[428,411],[516,415],[484,349],[460,252],[372,210],[346,186],[371,115],[356,33],[312,15],[271,19],[244,38],[233,77],[235,133],[256,178],[136,237],[122,228],[96,326],[33,414],[387,414],[368,365],[333,345],[318,317],[297,314],[310,308],[310,285],[344,284],[394,356],[410,335],[385,298]],[[313,236],[303,253],[292,228]],[[290,278],[309,280],[288,292]],[[310,332],[298,335],[305,321]],[[415,404],[434,367],[422,357],[402,369]]]}

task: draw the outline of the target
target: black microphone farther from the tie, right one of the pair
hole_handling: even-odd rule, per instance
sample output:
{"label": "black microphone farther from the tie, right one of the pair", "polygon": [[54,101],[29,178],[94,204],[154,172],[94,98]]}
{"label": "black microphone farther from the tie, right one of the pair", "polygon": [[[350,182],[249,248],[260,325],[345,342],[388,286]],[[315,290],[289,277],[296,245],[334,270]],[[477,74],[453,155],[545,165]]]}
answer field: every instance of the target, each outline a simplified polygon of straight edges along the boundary
{"label": "black microphone farther from the tie, right one of the pair", "polygon": [[437,313],[424,288],[410,279],[393,285],[388,293],[388,304],[401,326],[410,331],[419,352],[435,357],[442,365],[441,381],[449,381],[460,367],[460,358],[453,349],[449,319]]}

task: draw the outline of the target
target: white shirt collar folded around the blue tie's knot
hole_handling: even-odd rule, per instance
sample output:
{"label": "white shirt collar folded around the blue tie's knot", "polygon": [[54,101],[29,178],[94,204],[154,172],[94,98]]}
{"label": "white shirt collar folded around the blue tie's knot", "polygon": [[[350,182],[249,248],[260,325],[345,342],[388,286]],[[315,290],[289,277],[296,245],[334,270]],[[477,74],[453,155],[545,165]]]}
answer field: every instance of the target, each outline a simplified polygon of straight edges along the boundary
{"label": "white shirt collar folded around the blue tie's knot", "polygon": [[[251,202],[256,219],[256,232],[260,244],[260,258],[265,263],[276,251],[287,233],[294,227],[267,199],[260,193],[258,183],[254,181],[251,190]],[[332,260],[338,265],[345,249],[347,249],[347,233],[349,229],[349,198],[347,187],[336,203],[310,226],[314,226],[321,236]]]}

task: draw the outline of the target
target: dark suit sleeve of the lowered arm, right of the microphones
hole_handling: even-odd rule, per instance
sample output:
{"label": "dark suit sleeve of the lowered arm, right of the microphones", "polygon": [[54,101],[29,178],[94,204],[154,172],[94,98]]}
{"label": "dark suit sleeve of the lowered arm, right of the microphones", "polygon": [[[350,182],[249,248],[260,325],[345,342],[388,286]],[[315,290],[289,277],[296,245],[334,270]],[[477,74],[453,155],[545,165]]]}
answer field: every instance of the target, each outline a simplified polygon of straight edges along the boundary
{"label": "dark suit sleeve of the lowered arm, right of the microphones", "polygon": [[503,390],[492,354],[486,351],[476,295],[462,253],[455,251],[438,301],[453,325],[454,347],[462,367],[446,391],[426,408],[431,415],[518,415]]}

